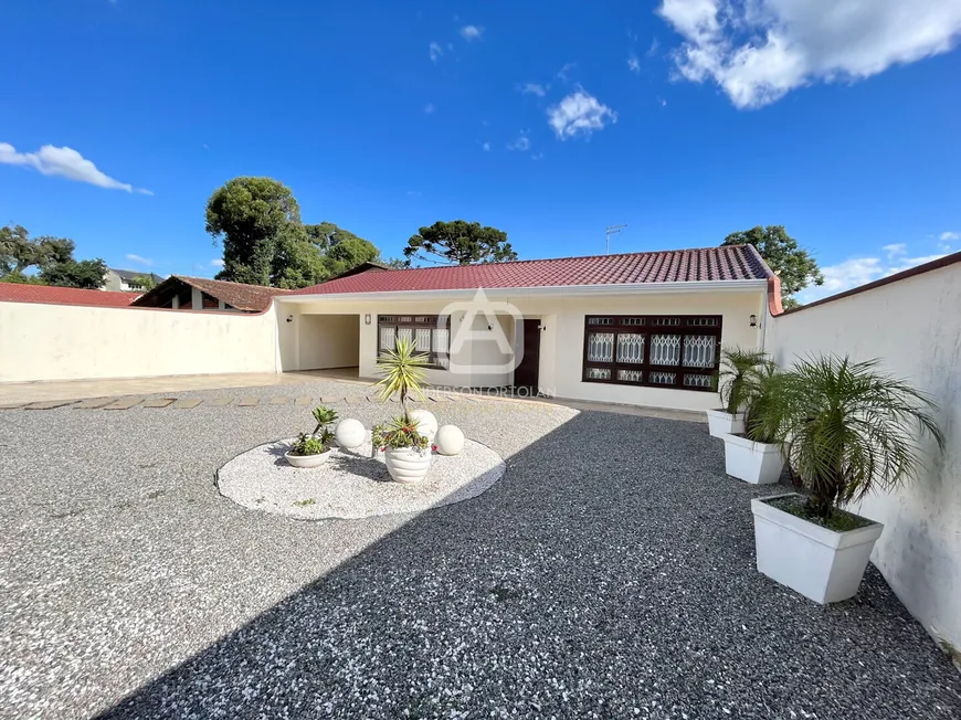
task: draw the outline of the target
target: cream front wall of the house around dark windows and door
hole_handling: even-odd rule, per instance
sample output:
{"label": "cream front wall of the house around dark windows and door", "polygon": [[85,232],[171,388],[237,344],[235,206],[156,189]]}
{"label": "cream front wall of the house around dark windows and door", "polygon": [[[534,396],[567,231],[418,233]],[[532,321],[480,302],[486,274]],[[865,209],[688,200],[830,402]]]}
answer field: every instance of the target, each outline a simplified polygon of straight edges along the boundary
{"label": "cream front wall of the house around dark windows and door", "polygon": [[[539,384],[543,392],[558,398],[573,400],[594,400],[601,402],[629,403],[654,407],[684,410],[706,410],[717,407],[719,401],[711,392],[674,390],[659,388],[633,388],[630,385],[583,382],[582,363],[584,347],[585,315],[721,315],[724,345],[758,347],[761,342],[761,318],[765,311],[765,290],[738,292],[690,292],[664,294],[604,295],[582,297],[549,297],[518,294],[506,299],[525,318],[539,319],[543,330],[540,338]],[[377,316],[380,315],[441,315],[450,300],[390,300],[390,301],[349,301],[321,299],[310,303],[291,303],[277,299],[281,307],[279,331],[282,357],[296,358],[296,331],[291,327],[311,314],[353,314],[360,317],[360,362],[361,378],[377,377]],[[365,315],[370,315],[370,325],[365,324]],[[288,316],[295,319],[285,322]],[[750,316],[758,319],[758,327],[750,327]],[[454,388],[497,388],[514,382],[513,363],[507,369],[484,371],[482,366],[496,366],[509,360],[499,351],[497,345],[484,341],[486,320],[475,318],[472,330],[479,340],[465,343],[462,348],[453,345],[461,329],[464,314],[454,311],[451,316],[452,366],[469,366],[467,372],[429,370],[427,382],[434,385]],[[517,339],[514,318],[498,316],[501,329],[509,343]],[[299,342],[304,339],[300,336]],[[285,352],[284,348],[287,347]],[[295,369],[289,362],[283,363],[285,370]]]}

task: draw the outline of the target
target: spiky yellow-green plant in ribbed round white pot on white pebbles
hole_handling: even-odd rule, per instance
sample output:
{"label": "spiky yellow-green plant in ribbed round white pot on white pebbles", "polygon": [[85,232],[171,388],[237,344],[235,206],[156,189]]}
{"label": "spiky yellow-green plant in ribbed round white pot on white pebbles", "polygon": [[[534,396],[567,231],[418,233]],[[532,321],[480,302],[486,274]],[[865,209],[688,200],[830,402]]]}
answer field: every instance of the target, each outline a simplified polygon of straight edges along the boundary
{"label": "spiky yellow-green plant in ribbed round white pot on white pebbles", "polygon": [[431,469],[430,440],[422,434],[416,420],[408,412],[408,398],[423,398],[424,367],[427,357],[414,353],[408,340],[398,340],[393,350],[378,358],[377,369],[383,375],[374,384],[382,400],[400,395],[403,414],[388,423],[374,425],[371,442],[374,452],[383,452],[390,476],[398,483],[419,483]]}

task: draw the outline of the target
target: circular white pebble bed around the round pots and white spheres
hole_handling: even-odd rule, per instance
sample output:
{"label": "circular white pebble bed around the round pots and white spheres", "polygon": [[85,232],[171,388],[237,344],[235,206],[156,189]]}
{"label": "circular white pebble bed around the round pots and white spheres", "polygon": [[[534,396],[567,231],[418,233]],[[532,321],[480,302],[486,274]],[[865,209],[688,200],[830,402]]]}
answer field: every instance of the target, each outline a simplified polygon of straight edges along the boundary
{"label": "circular white pebble bed around the round pots and white spheres", "polygon": [[504,476],[504,459],[468,440],[464,451],[434,453],[423,483],[391,480],[383,454],[371,458],[370,433],[355,449],[335,447],[316,468],[297,468],[284,459],[293,438],[267,443],[237,455],[217,473],[221,495],[252,510],[298,520],[357,519],[422,512],[477,497]]}

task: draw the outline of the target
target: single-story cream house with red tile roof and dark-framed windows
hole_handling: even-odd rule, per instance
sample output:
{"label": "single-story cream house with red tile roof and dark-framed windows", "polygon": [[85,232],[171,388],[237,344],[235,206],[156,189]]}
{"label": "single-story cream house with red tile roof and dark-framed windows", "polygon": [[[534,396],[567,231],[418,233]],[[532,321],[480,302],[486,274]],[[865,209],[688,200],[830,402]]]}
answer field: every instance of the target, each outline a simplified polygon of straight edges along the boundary
{"label": "single-story cream house with red tile roof and dark-framed windows", "polygon": [[434,385],[703,410],[721,345],[762,346],[780,282],[738,245],[378,268],[275,300],[284,370],[376,378],[378,354],[408,339]]}

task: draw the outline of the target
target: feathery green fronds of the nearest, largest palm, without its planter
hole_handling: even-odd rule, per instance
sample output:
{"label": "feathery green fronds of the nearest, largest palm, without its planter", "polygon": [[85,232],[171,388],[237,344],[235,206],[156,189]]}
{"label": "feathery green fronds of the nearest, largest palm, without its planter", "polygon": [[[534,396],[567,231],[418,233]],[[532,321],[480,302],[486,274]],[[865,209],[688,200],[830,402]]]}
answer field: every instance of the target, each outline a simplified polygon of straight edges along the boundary
{"label": "feathery green fronds of the nearest, largest palm, without its planter", "polygon": [[756,423],[781,438],[807,491],[807,511],[817,518],[826,520],[837,506],[912,477],[921,466],[919,435],[944,446],[936,403],[879,372],[877,360],[802,360],[775,388],[756,410]]}

